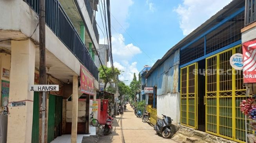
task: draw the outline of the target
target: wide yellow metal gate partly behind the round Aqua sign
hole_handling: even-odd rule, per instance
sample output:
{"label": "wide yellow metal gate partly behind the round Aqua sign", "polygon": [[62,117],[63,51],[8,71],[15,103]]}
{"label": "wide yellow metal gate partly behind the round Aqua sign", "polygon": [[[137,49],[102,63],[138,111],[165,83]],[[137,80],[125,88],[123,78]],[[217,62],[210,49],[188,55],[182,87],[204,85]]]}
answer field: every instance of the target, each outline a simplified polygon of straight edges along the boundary
{"label": "wide yellow metal gate partly behind the round Aqua sign", "polygon": [[245,116],[239,107],[246,99],[243,75],[229,63],[235,53],[241,53],[240,45],[206,59],[205,129],[216,136],[244,142]]}

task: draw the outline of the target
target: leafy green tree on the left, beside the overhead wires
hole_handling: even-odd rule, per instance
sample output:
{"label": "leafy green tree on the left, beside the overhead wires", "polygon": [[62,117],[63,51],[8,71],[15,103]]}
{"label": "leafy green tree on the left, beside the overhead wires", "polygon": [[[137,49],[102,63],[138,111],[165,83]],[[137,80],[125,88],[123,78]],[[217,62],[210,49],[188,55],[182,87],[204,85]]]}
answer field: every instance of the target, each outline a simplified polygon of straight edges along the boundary
{"label": "leafy green tree on the left, beside the overhead wires", "polygon": [[[105,70],[105,72],[103,69]],[[114,72],[113,72],[112,68],[107,66],[103,66],[103,67],[100,66],[99,71],[100,71],[100,79],[104,83],[104,89],[106,89],[108,82],[114,80],[118,75],[121,74],[121,71],[118,70],[118,68],[114,68]]]}

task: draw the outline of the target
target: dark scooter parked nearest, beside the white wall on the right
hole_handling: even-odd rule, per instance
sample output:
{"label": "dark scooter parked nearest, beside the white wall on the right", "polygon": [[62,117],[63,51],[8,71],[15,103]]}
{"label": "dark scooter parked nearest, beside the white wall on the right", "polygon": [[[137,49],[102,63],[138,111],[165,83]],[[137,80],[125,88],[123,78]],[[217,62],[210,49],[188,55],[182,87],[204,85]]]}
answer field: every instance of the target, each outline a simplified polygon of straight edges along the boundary
{"label": "dark scooter parked nearest, beside the white wall on the right", "polygon": [[[163,114],[162,114],[163,115]],[[163,115],[163,120],[158,119],[154,129],[156,134],[162,135],[163,138],[170,138],[173,136],[174,131],[171,127],[172,119],[171,117]]]}

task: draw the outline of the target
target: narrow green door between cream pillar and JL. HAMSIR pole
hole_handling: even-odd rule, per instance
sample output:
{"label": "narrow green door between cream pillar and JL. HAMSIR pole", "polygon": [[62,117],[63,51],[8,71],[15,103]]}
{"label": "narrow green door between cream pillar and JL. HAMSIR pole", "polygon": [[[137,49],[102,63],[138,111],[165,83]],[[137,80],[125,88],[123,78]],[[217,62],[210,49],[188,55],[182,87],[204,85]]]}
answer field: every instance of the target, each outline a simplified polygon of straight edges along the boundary
{"label": "narrow green door between cream pillar and JL. HAMSIR pole", "polygon": [[34,92],[33,102],[33,123],[32,123],[32,139],[31,143],[39,142],[39,93]]}

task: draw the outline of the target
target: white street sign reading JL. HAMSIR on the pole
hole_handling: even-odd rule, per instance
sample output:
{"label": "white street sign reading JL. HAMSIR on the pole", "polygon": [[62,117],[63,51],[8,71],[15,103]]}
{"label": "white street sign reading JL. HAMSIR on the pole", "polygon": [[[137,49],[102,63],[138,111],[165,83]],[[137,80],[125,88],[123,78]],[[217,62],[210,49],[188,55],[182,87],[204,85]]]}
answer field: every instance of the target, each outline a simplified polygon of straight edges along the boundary
{"label": "white street sign reading JL. HAMSIR on the pole", "polygon": [[31,85],[29,91],[59,91],[59,85]]}

